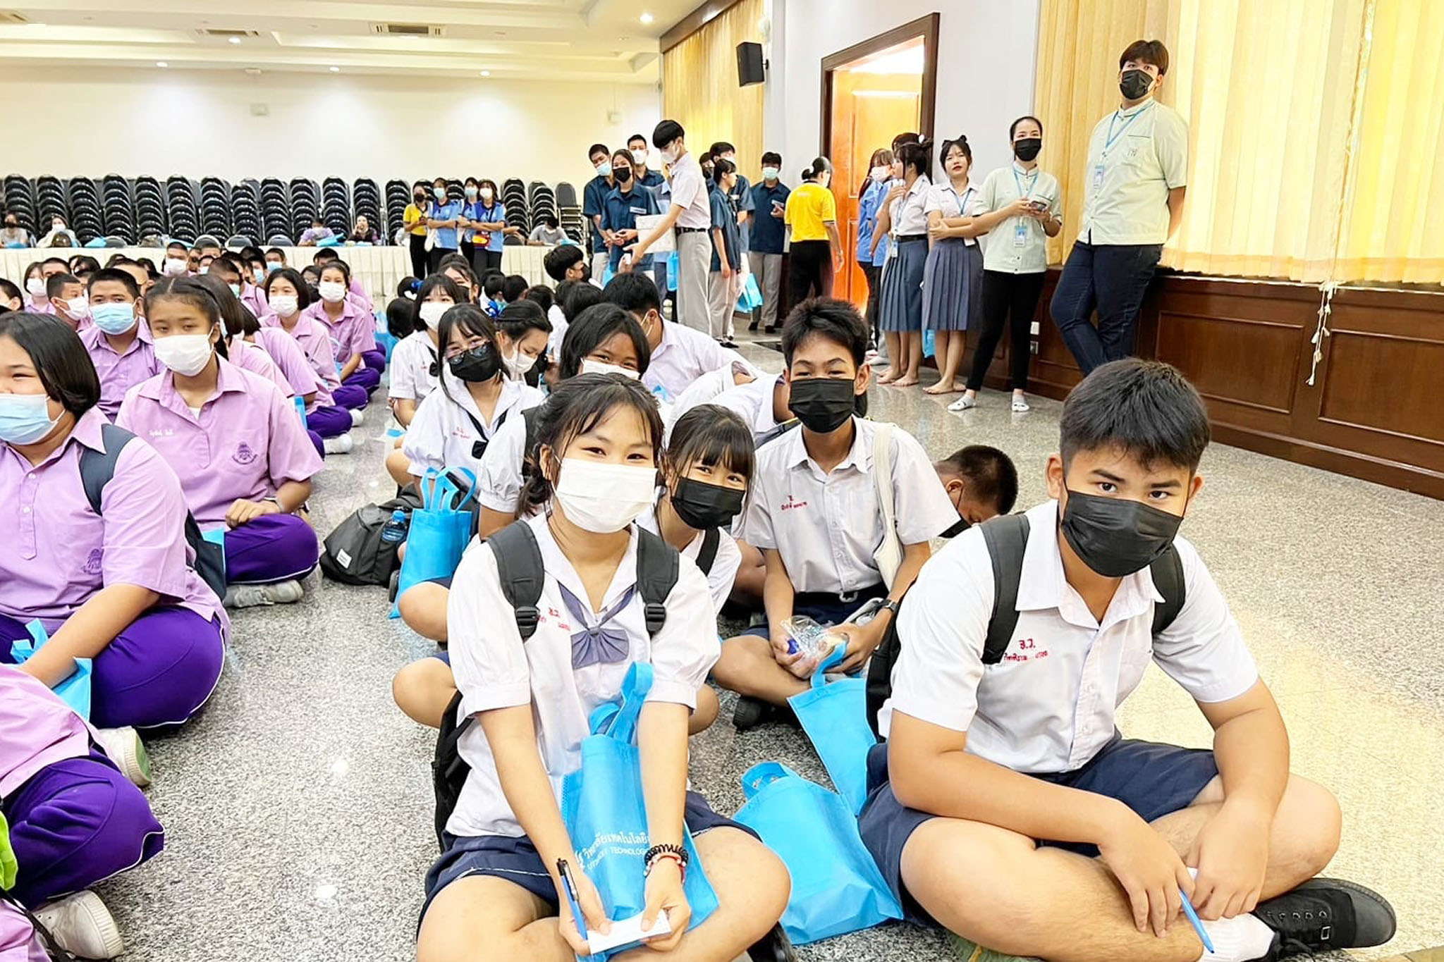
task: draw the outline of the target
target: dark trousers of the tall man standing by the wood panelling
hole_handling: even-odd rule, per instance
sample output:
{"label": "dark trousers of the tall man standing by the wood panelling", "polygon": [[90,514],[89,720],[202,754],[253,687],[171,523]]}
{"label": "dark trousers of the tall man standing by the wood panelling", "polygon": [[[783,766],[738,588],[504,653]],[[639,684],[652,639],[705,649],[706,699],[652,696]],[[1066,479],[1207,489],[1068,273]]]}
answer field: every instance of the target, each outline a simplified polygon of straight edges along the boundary
{"label": "dark trousers of the tall man standing by the wood panelling", "polygon": [[1162,244],[1073,245],[1050,313],[1084,375],[1134,353],[1138,312],[1162,252]]}

